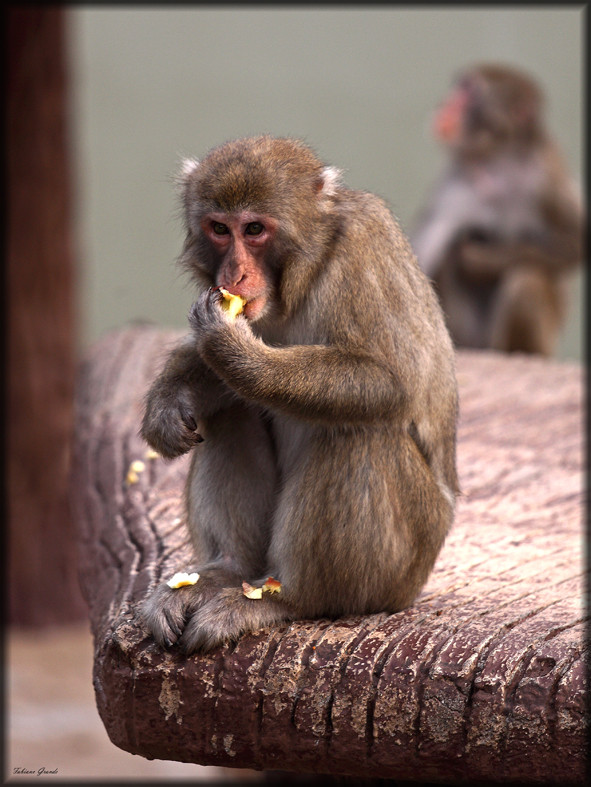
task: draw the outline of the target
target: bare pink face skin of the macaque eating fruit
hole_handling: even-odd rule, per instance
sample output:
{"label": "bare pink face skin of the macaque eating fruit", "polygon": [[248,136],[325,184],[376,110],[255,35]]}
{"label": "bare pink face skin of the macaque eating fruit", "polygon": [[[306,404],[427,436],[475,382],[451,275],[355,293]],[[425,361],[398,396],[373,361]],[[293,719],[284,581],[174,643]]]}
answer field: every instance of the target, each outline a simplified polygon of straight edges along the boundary
{"label": "bare pink face skin of the macaque eating fruit", "polygon": [[201,228],[219,260],[216,285],[246,301],[244,316],[256,320],[271,290],[267,255],[277,229],[276,219],[251,211],[208,213]]}

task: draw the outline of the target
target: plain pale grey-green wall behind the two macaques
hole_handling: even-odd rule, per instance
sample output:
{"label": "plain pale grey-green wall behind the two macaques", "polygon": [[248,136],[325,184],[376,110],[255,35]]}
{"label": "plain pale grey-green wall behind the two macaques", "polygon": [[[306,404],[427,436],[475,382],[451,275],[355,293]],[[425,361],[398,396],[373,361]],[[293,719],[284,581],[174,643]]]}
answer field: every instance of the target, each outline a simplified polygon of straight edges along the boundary
{"label": "plain pale grey-green wall behind the two macaques", "polygon": [[[581,182],[584,10],[570,6],[71,7],[84,348],[134,319],[184,327],[171,176],[237,136],[306,139],[410,227],[442,162],[431,113],[467,63],[535,75]],[[582,353],[582,277],[559,356]]]}

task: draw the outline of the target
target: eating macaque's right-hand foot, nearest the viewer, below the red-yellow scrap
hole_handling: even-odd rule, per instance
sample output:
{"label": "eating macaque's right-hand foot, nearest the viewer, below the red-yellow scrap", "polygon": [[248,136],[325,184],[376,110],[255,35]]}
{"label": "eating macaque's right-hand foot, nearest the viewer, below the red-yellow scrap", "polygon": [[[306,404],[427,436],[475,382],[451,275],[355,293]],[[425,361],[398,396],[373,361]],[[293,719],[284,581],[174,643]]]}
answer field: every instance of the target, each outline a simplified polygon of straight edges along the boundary
{"label": "eating macaque's right-hand foot, nearest the viewer, below the red-yellow scrap", "polygon": [[179,645],[185,653],[211,650],[247,631],[293,619],[288,606],[275,598],[246,598],[239,588],[224,588],[187,621]]}

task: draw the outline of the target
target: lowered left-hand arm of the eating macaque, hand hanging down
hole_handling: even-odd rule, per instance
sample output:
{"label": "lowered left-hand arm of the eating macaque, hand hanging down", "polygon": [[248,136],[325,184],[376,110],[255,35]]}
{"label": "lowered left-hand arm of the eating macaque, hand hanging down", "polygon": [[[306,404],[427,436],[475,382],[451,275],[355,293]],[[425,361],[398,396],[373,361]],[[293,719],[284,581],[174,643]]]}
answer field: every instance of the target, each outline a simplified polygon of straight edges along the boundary
{"label": "lowered left-hand arm of the eating macaque, hand hanging down", "polygon": [[148,391],[142,437],[167,459],[180,456],[201,442],[198,422],[235,398],[201,359],[194,342],[184,341],[171,352]]}

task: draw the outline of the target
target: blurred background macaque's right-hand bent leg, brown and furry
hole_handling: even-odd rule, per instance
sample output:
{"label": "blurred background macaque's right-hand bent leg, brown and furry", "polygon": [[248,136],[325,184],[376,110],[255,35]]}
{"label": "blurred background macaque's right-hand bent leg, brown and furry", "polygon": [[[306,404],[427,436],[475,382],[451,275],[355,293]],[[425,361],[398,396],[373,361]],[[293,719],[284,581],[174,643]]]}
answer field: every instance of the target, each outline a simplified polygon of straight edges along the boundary
{"label": "blurred background macaque's right-hand bent leg, brown and furry", "polygon": [[504,352],[551,355],[564,315],[560,283],[535,268],[507,274],[492,320],[491,347]]}

